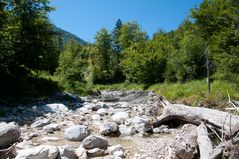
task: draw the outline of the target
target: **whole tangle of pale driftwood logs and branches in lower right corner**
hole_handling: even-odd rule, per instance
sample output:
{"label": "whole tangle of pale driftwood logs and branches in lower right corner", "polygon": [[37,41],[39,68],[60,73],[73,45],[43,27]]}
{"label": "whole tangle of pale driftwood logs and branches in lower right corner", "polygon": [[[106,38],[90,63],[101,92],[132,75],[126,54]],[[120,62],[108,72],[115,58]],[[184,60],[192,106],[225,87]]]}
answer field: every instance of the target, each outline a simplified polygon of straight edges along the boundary
{"label": "whole tangle of pale driftwood logs and branches in lower right corner", "polygon": [[[194,124],[197,126],[197,145],[199,146],[200,159],[239,158],[239,116],[214,109],[170,104],[163,97],[160,100],[161,105],[163,105],[162,115],[152,124],[153,127],[170,123],[169,121],[171,123],[172,121],[180,121],[183,124]],[[221,143],[214,149],[209,137],[209,131],[221,140]],[[179,157],[178,154],[181,154],[178,153],[180,152],[178,150],[182,149],[179,149],[179,146],[173,146],[173,148],[171,151],[174,151],[176,157],[172,158],[176,159]]]}

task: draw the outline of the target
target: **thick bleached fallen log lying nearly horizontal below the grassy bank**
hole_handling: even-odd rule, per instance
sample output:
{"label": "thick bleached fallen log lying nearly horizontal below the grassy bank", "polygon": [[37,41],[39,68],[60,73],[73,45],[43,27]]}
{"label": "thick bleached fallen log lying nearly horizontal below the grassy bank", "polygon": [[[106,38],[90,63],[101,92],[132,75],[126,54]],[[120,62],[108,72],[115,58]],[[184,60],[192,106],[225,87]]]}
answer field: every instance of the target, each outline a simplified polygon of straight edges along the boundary
{"label": "thick bleached fallen log lying nearly horizontal below the grassy bank", "polygon": [[[191,107],[182,104],[163,104],[162,115],[159,116],[157,122],[153,123],[153,127],[158,127],[170,120],[182,121],[200,125],[202,122],[211,125],[220,134],[231,138],[239,130],[239,116],[222,112],[209,108]],[[167,103],[167,104],[165,104]]]}

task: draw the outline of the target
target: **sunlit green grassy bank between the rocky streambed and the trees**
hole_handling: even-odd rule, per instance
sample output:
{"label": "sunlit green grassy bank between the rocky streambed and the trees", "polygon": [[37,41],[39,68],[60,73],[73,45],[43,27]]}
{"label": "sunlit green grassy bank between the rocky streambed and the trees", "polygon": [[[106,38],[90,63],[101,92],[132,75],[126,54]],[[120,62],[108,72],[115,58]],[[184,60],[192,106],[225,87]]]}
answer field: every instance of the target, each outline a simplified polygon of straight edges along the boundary
{"label": "sunlit green grassy bank between the rocky streambed and the trees", "polygon": [[95,85],[93,90],[147,90],[154,91],[167,98],[172,103],[191,106],[205,106],[224,109],[231,99],[239,100],[239,86],[225,80],[215,80],[211,83],[211,93],[208,94],[206,80],[186,83],[158,83],[153,85],[120,83],[112,85]]}

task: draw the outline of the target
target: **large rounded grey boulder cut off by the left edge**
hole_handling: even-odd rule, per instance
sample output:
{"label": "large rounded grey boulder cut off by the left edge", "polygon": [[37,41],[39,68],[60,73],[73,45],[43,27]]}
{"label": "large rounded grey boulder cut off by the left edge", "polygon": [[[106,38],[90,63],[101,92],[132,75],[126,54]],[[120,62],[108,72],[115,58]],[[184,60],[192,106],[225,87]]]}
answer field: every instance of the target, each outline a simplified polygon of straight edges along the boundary
{"label": "large rounded grey boulder cut off by the left edge", "polygon": [[14,123],[0,124],[0,148],[7,148],[21,137],[21,132]]}

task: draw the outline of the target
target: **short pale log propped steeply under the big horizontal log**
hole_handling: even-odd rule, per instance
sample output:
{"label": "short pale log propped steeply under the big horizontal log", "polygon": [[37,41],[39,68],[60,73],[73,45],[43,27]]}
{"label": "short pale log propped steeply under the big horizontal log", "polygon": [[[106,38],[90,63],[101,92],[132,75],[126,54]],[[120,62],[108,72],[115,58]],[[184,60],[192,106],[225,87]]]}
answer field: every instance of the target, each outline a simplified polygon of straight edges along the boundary
{"label": "short pale log propped steeply under the big horizontal log", "polygon": [[199,146],[200,159],[209,159],[213,151],[213,146],[208,137],[207,126],[201,123],[197,127],[197,143]]}

